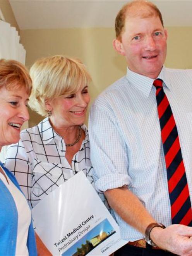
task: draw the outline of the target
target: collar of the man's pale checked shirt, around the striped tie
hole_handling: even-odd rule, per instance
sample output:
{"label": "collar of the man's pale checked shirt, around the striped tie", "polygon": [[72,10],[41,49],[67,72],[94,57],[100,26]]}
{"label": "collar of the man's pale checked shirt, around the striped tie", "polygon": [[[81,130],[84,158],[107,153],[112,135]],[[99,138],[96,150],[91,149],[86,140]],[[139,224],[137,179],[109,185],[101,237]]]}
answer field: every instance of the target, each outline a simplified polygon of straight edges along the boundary
{"label": "collar of the man's pale checked shirt, around the striped tie", "polygon": [[[165,66],[163,66],[157,78],[163,80],[163,86],[166,86],[168,89],[171,89],[171,84],[166,73],[167,72]],[[131,71],[129,68],[127,68],[126,77],[135,88],[141,91],[147,98],[149,97],[149,93],[151,92],[151,89],[153,87],[153,81],[155,79],[137,74]]]}

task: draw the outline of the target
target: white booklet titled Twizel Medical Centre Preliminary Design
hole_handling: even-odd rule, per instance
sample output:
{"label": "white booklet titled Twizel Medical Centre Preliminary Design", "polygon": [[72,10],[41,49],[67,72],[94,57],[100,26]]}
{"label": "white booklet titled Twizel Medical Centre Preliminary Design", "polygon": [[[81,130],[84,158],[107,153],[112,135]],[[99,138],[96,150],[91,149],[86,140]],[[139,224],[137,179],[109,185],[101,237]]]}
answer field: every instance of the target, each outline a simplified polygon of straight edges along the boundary
{"label": "white booklet titled Twizel Medical Centre Preliminary Design", "polygon": [[43,198],[32,216],[53,255],[110,255],[128,242],[82,171]]}

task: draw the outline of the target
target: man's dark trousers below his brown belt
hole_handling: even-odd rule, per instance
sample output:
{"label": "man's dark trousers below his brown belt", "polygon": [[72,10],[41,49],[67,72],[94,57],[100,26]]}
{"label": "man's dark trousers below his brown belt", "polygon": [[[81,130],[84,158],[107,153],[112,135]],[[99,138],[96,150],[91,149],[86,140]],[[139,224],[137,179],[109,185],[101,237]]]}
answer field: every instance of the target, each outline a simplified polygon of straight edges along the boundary
{"label": "man's dark trousers below his brown belt", "polygon": [[150,245],[147,248],[140,248],[125,244],[123,247],[118,249],[114,256],[174,256],[176,254],[169,253],[164,250],[153,249]]}

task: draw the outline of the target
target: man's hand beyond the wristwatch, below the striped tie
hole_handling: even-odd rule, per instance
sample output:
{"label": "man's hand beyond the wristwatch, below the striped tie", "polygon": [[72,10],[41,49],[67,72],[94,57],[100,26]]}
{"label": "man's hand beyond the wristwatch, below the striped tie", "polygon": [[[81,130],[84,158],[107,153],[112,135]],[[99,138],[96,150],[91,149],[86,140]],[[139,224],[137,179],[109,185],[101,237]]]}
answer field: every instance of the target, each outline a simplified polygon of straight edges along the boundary
{"label": "man's hand beyond the wristwatch, below the striped tie", "polygon": [[174,224],[166,229],[154,227],[150,238],[162,249],[182,256],[192,256],[192,227]]}

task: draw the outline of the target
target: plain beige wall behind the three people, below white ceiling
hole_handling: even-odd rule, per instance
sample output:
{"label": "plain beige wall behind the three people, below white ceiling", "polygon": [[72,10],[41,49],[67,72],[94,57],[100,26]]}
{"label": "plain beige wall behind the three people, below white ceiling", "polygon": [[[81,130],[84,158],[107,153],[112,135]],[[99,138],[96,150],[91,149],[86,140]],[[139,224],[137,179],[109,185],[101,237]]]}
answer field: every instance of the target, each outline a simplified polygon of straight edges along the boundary
{"label": "plain beige wall behind the three people, below white ceiling", "polygon": [[[192,27],[169,27],[168,34],[166,66],[192,68]],[[93,78],[90,86],[92,100],[126,72],[124,57],[113,50],[114,36],[113,28],[21,30],[28,67],[37,58],[48,55],[80,58]],[[34,112],[30,114],[30,126],[42,119]]]}

